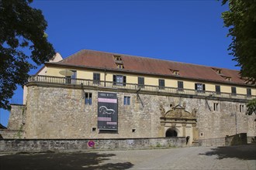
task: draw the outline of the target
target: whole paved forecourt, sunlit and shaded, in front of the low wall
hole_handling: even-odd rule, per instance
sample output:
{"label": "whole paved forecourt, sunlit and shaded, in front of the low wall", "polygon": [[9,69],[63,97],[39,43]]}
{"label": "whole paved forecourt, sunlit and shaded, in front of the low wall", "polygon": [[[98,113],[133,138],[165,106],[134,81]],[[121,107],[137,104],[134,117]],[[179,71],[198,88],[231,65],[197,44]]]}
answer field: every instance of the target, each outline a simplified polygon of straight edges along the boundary
{"label": "whole paved forecourt, sunlit and shaded, in front of the low wall", "polygon": [[0,169],[251,169],[256,145],[1,155]]}

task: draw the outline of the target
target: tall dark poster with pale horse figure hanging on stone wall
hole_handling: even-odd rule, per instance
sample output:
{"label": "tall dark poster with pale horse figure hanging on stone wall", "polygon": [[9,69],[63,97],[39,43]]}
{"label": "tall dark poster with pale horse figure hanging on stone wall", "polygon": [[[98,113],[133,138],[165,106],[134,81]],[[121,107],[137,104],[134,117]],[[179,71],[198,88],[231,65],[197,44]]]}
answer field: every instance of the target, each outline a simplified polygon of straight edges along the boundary
{"label": "tall dark poster with pale horse figure hanging on stone wall", "polygon": [[117,131],[116,93],[98,93],[98,128],[99,130]]}

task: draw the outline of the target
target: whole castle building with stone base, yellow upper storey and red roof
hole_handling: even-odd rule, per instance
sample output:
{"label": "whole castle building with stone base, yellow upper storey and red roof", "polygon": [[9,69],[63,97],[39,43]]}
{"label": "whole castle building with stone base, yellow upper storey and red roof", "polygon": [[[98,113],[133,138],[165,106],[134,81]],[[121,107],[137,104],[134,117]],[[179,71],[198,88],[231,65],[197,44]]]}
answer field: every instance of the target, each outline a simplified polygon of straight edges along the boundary
{"label": "whole castle building with stone base, yellow upper storey and red roof", "polygon": [[255,97],[237,70],[85,49],[29,77],[8,128],[22,138],[256,136]]}

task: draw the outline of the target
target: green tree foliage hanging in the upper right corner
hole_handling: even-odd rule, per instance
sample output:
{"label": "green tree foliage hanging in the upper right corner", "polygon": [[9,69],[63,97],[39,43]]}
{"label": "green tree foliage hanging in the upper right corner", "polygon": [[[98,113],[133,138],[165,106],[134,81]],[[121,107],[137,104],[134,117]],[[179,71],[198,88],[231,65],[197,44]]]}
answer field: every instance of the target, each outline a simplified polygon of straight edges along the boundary
{"label": "green tree foliage hanging in the upper right corner", "polygon": [[240,66],[240,76],[256,83],[256,0],[223,0],[230,10],[222,13],[224,26],[232,37],[229,50]]}

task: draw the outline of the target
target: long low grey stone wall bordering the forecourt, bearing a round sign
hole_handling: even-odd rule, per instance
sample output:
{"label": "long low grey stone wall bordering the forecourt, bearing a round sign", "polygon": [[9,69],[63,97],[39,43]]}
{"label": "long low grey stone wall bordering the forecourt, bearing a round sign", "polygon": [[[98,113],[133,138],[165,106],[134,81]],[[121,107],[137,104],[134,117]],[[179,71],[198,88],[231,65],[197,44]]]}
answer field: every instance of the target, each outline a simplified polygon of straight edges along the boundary
{"label": "long low grey stone wall bordering the forecourt, bearing a round sign", "polygon": [[0,139],[0,151],[86,151],[108,149],[141,149],[185,147],[185,138],[128,138],[94,139],[95,145],[88,146],[89,139]]}

